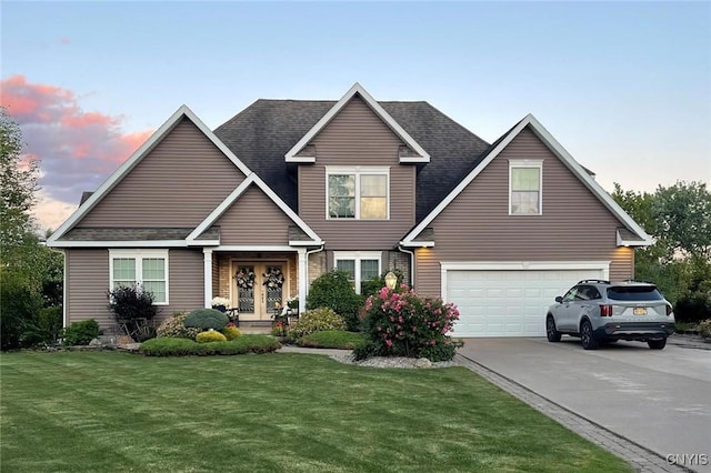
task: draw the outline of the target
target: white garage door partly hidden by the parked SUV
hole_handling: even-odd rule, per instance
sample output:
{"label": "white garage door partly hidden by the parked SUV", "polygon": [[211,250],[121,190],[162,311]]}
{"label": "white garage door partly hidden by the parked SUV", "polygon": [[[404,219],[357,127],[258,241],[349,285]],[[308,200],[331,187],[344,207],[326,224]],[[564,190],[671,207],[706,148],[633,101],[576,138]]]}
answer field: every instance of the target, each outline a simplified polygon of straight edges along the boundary
{"label": "white garage door partly hidden by the parked SUV", "polygon": [[557,295],[604,269],[445,270],[447,302],[459,308],[454,336],[544,336],[544,316]]}

